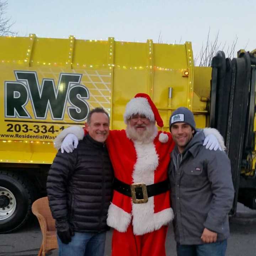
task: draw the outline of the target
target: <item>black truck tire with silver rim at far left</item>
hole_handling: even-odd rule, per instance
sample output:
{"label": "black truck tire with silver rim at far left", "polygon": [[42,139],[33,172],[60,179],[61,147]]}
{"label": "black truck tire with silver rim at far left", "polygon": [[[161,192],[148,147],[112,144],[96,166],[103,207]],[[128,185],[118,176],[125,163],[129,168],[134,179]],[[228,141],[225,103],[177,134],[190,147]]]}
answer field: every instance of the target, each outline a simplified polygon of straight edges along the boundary
{"label": "black truck tire with silver rim at far left", "polygon": [[25,224],[34,199],[32,183],[11,171],[0,171],[0,233]]}

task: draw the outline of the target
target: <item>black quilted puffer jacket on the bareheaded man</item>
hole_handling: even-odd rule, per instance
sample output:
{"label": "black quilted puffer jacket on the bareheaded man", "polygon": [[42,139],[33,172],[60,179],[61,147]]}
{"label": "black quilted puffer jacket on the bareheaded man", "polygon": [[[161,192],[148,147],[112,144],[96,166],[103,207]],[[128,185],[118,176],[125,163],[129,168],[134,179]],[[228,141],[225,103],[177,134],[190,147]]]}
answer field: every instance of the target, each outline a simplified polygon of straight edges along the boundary
{"label": "black quilted puffer jacket on the bareheaded man", "polygon": [[49,205],[56,226],[101,232],[112,196],[113,169],[106,145],[87,134],[72,153],[58,151],[47,178]]}

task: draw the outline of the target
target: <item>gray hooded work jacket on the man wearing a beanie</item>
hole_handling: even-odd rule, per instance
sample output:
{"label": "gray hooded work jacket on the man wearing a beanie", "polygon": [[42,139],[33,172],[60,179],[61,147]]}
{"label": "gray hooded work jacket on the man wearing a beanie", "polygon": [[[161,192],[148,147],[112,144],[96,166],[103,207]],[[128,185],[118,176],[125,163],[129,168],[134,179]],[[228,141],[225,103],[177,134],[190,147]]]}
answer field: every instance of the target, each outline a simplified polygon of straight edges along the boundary
{"label": "gray hooded work jacket on the man wearing a beanie", "polygon": [[217,241],[229,236],[230,160],[223,151],[206,149],[203,140],[203,131],[197,132],[182,154],[175,146],[168,170],[175,240],[185,245],[203,244],[204,228],[218,233]]}

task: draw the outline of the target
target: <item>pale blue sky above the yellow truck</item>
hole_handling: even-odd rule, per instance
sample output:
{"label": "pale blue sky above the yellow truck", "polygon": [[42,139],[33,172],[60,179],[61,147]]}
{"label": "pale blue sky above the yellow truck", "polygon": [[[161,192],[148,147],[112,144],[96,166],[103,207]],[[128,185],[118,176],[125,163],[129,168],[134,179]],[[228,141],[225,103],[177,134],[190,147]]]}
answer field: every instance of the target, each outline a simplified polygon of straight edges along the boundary
{"label": "pale blue sky above the yellow truck", "polygon": [[255,0],[8,0],[7,15],[19,36],[106,39],[156,43],[191,41],[194,55],[219,31],[219,42],[236,50],[256,48]]}

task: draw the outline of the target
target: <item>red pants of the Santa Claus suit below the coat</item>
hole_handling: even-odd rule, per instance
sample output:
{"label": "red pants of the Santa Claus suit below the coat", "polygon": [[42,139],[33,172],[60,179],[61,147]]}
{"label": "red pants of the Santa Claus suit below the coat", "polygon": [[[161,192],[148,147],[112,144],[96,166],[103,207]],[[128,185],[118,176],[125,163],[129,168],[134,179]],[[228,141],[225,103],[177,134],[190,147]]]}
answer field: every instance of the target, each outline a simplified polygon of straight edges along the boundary
{"label": "red pants of the Santa Claus suit below the coat", "polygon": [[130,224],[126,232],[114,229],[112,256],[165,256],[167,226],[144,235],[134,235]]}

